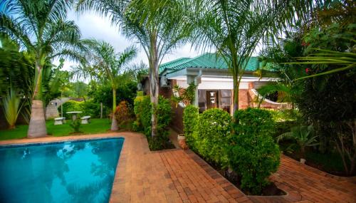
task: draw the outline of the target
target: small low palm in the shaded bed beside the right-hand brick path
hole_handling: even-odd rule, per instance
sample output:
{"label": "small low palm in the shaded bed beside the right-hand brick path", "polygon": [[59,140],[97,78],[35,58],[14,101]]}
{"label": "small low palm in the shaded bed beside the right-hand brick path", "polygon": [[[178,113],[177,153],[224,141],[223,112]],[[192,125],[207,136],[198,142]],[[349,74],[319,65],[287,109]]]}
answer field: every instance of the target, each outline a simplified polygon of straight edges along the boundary
{"label": "small low palm in the shaded bed beside the right-hand brick path", "polygon": [[309,126],[296,126],[290,128],[290,132],[285,132],[277,137],[277,142],[286,139],[293,139],[300,147],[300,158],[305,159],[305,147],[312,147],[319,145],[316,138],[317,135],[313,135],[314,128]]}

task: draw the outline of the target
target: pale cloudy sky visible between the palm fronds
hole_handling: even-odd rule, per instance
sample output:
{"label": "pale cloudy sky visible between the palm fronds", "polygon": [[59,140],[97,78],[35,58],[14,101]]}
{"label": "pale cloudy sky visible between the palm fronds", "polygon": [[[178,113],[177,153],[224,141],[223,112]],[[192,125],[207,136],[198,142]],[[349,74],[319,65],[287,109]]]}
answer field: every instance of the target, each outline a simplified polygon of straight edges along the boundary
{"label": "pale cloudy sky visible between the palm fronds", "polygon": [[[132,63],[140,63],[140,61],[143,61],[148,64],[147,56],[145,51],[140,47],[140,44],[125,38],[116,26],[111,25],[109,18],[101,17],[95,14],[95,12],[85,12],[84,14],[78,15],[74,11],[70,11],[68,13],[68,20],[75,21],[75,24],[79,26],[82,38],[95,38],[97,40],[107,41],[117,52],[124,51],[127,46],[135,45],[139,52]],[[196,51],[192,48],[190,43],[187,43],[164,56],[162,63],[182,57],[195,57],[199,54],[199,51]],[[54,63],[56,65],[59,64],[58,60],[54,61]],[[64,63],[63,69],[69,70],[70,66],[75,64],[75,62],[67,60]]]}

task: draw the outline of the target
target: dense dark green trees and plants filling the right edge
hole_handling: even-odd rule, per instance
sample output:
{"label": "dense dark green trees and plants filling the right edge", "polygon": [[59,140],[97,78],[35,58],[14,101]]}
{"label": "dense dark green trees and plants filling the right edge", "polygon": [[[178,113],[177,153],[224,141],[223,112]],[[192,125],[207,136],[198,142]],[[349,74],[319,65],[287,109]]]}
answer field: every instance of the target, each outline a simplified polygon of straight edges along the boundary
{"label": "dense dark green trees and plants filling the right edge", "polygon": [[[315,12],[318,18],[312,24],[298,25],[298,30],[286,32],[279,46],[262,51],[264,70],[276,71],[280,80],[258,90],[263,97],[277,93],[278,100],[298,109],[294,121],[278,123],[279,138],[290,138],[280,142],[283,151],[292,157],[338,153],[344,175],[356,172],[355,19],[350,18],[351,7],[348,1],[330,4]],[[325,166],[308,156],[306,163]],[[327,168],[327,172],[342,174]]]}

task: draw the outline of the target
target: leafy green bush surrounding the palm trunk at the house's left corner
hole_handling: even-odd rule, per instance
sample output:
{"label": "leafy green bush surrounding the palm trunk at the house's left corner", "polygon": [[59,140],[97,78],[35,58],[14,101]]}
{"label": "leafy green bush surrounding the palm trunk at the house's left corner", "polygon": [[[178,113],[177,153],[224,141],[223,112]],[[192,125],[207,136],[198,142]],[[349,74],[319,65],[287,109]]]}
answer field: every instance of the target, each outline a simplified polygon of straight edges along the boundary
{"label": "leafy green bush surrounding the palm trunk at the house's left corner", "polygon": [[162,150],[171,145],[169,143],[169,131],[167,129],[172,119],[172,107],[169,100],[159,96],[158,105],[155,111],[157,113],[157,135],[151,137],[152,105],[150,97],[139,96],[135,98],[134,112],[136,121],[133,124],[133,129],[145,133],[151,150]]}

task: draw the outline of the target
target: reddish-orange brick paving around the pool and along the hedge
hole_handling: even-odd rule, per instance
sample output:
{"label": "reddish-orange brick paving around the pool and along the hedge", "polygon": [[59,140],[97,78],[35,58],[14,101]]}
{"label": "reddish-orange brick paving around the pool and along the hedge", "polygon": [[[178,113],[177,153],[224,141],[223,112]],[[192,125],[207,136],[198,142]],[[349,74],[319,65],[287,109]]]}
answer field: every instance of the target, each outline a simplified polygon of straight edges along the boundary
{"label": "reddish-orange brick paving around the pool and along the hedge", "polygon": [[245,196],[190,150],[150,152],[138,133],[5,140],[0,145],[95,137],[125,137],[110,202],[356,202],[355,178],[327,175],[285,156],[271,180],[288,194],[258,197]]}

